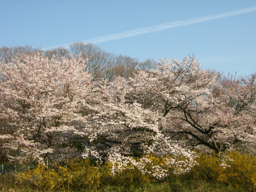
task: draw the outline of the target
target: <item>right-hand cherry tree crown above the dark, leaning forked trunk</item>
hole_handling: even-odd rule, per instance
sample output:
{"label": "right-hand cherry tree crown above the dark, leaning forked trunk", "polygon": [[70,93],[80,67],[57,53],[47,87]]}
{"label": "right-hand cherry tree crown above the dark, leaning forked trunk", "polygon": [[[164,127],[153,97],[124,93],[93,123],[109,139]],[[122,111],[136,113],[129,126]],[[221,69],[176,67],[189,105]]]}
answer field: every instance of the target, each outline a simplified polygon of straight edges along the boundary
{"label": "right-hand cherry tree crown above the dark, leaning forked trunk", "polygon": [[127,80],[125,102],[158,113],[162,134],[216,153],[238,142],[255,143],[255,74],[219,80],[214,71],[202,70],[194,56],[160,61],[156,70]]}

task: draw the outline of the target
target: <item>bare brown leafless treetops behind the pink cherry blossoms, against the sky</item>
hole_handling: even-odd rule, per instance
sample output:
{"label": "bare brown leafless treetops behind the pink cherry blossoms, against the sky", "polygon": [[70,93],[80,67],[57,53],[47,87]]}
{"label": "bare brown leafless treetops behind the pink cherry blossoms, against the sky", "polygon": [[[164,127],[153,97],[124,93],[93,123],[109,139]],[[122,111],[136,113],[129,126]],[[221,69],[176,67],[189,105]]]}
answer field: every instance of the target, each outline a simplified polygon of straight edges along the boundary
{"label": "bare brown leafless treetops behind the pink cherry blossoms, against the sky", "polygon": [[40,47],[34,48],[27,45],[24,47],[4,46],[0,48],[0,60],[4,63],[8,63],[20,54],[29,55],[34,53],[40,53],[49,59],[54,57],[60,61],[63,57],[70,57],[70,54],[72,54],[74,58],[81,54],[83,59],[88,59],[86,70],[93,74],[94,80],[104,79],[112,81],[114,76],[127,78],[133,76],[138,69],[155,69],[157,65],[157,61],[153,59],[146,59],[141,62],[137,58],[115,55],[102,50],[96,45],[91,43],[84,44],[83,42],[75,42],[69,45],[68,49],[65,47],[58,47],[50,50],[41,50]]}

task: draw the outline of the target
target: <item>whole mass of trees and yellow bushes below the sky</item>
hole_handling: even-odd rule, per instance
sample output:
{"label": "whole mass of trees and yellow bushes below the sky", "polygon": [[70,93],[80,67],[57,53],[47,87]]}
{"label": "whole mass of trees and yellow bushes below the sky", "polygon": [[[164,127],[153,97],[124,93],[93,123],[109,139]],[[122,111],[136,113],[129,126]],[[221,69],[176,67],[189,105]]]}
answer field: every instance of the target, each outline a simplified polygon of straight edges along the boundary
{"label": "whole mass of trees and yellow bushes below the sky", "polygon": [[38,166],[2,190],[255,191],[256,73],[19,48],[0,50],[0,163]]}

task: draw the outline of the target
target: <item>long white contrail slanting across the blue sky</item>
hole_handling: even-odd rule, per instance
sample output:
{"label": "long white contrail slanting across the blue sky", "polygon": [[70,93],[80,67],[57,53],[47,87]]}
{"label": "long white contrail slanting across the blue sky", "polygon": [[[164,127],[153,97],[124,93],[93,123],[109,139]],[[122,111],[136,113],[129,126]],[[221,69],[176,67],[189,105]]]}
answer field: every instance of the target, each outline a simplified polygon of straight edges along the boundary
{"label": "long white contrail slanting across the blue sky", "polygon": [[[234,10],[234,11],[230,11],[230,12],[225,12],[225,13],[206,15],[203,17],[196,17],[193,19],[186,19],[186,20],[175,21],[175,22],[171,22],[171,23],[163,23],[163,24],[154,25],[151,27],[132,29],[132,30],[125,31],[123,33],[116,33],[116,34],[112,34],[112,35],[106,35],[106,36],[83,40],[82,42],[84,42],[84,43],[89,43],[89,42],[90,43],[99,43],[99,42],[111,41],[111,40],[115,40],[115,39],[133,37],[133,36],[140,35],[140,34],[152,33],[155,31],[162,31],[165,29],[170,29],[170,28],[175,28],[175,27],[192,25],[192,24],[196,24],[196,23],[203,23],[206,21],[221,19],[221,18],[225,18],[225,17],[231,17],[231,16],[235,16],[235,15],[241,15],[241,14],[250,13],[250,12],[254,12],[254,11],[256,11],[256,6],[239,9],[239,10]],[[47,47],[45,49],[52,49],[52,48],[56,48],[59,46],[67,47],[70,44],[72,44],[72,43],[56,45],[56,46],[52,46],[52,47]]]}

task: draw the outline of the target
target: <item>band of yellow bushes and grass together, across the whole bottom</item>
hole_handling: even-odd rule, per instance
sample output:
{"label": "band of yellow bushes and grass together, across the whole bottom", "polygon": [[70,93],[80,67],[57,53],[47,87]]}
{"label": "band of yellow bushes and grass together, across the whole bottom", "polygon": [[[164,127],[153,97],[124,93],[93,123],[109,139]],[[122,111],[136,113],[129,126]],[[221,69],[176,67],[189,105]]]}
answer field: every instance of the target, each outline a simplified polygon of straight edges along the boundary
{"label": "band of yellow bushes and grass together, across the whole bottom", "polygon": [[[256,191],[256,158],[233,151],[223,168],[216,154],[200,155],[199,165],[189,173],[169,175],[159,180],[138,169],[125,169],[115,175],[112,165],[95,166],[74,159],[65,166],[46,169],[39,165],[26,173],[0,175],[1,191]],[[150,157],[155,164],[164,158]]]}

